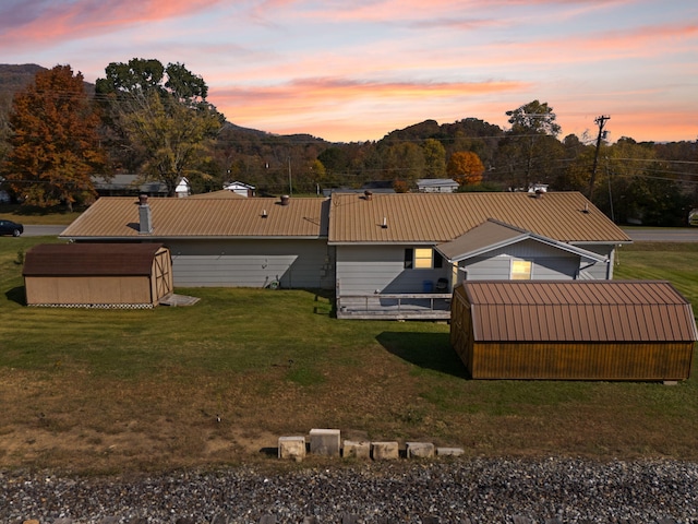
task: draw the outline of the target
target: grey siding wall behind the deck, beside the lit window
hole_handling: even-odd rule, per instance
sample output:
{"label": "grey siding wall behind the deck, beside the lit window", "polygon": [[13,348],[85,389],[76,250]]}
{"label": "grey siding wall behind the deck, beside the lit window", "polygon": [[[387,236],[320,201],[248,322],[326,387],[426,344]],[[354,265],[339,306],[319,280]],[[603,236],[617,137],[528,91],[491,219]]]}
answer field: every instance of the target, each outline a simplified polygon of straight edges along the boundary
{"label": "grey siding wall behind the deck, beside the lit window", "polygon": [[337,281],[342,296],[424,293],[424,282],[436,285],[450,266],[405,269],[405,250],[424,246],[337,246]]}

